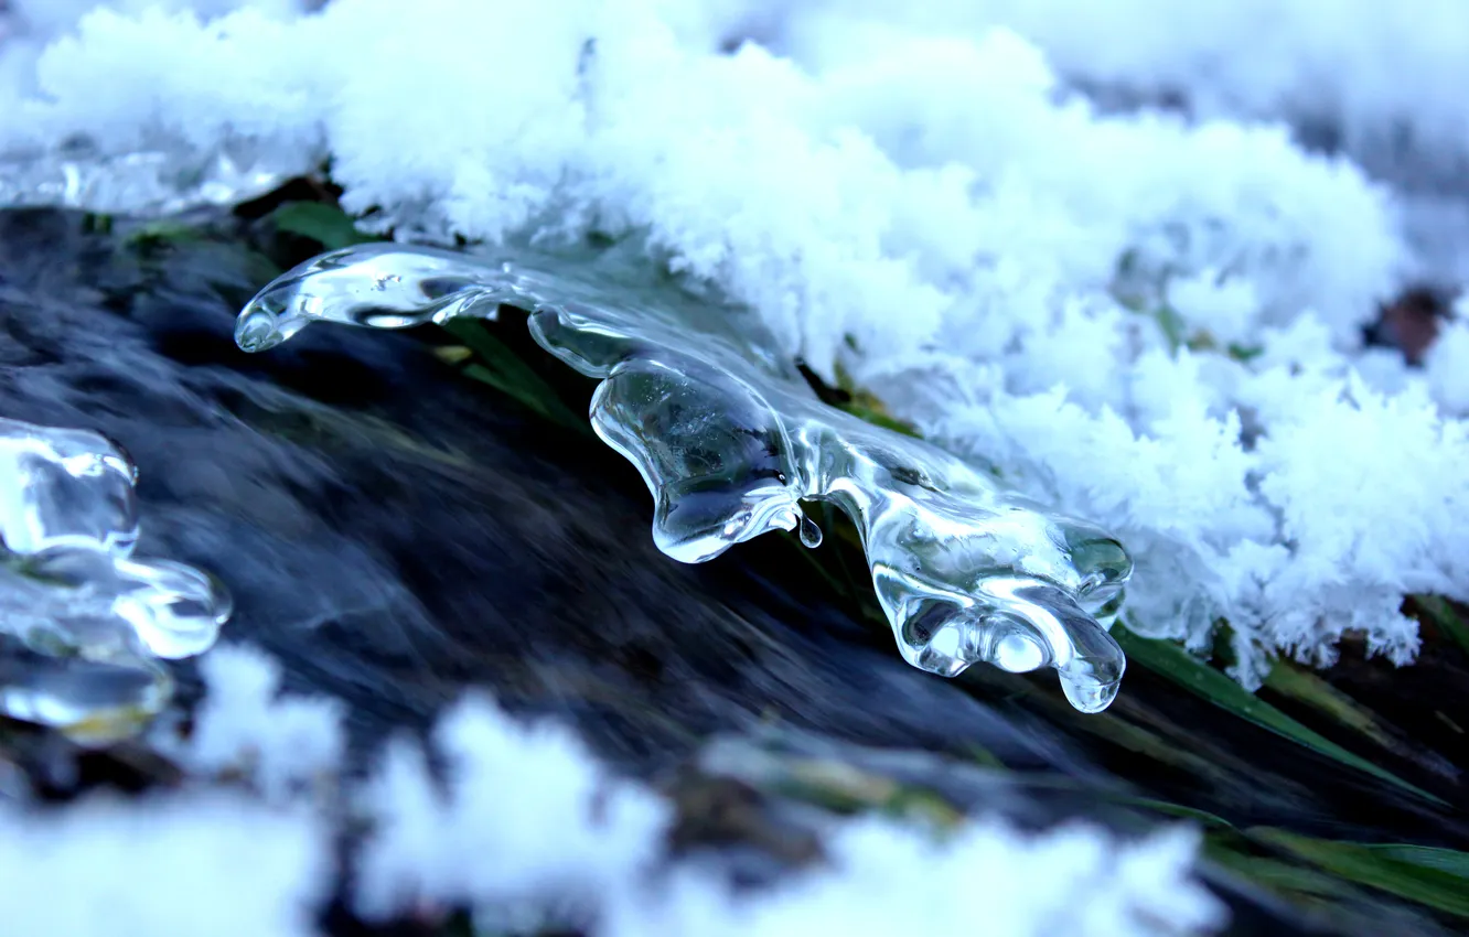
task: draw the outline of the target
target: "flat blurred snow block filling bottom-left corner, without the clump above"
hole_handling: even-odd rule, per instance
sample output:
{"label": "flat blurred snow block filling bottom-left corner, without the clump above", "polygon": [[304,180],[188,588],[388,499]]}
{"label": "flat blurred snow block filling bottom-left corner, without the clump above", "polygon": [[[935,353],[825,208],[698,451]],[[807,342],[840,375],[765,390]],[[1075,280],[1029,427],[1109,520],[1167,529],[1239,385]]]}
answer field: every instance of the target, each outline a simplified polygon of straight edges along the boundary
{"label": "flat blurred snow block filling bottom-left corner, without the clump above", "polygon": [[241,793],[0,805],[0,921],[7,937],[306,937],[329,861],[319,820]]}

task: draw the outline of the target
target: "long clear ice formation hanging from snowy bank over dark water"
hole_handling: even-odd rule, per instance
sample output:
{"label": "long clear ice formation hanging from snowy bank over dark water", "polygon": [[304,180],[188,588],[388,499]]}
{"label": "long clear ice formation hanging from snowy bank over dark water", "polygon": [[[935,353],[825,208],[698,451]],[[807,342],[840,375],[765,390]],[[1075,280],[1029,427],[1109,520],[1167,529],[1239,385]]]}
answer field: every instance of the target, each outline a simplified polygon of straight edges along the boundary
{"label": "long clear ice formation hanging from snowy bank over dark water", "polygon": [[[903,658],[952,677],[977,661],[1053,667],[1099,712],[1125,659],[1108,633],[1133,564],[1099,527],[1046,511],[921,439],[830,407],[758,339],[748,311],[633,282],[607,256],[486,261],[397,244],[322,254],[241,311],[235,341],[272,348],[313,322],[382,329],[530,313],[535,341],[601,379],[596,435],[654,498],[658,548],[704,562],[770,530],[821,532],[802,502],[843,510]],[[711,314],[712,313],[712,314]]]}

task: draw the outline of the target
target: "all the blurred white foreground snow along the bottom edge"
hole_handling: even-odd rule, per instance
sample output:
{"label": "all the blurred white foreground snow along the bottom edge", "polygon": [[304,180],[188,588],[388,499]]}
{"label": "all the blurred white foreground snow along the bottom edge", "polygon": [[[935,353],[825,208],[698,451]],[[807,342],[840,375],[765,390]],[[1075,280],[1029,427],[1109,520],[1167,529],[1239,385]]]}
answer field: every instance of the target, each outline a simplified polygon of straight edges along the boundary
{"label": "all the blurred white foreground snow along the bottom edge", "polygon": [[[185,792],[53,815],[0,802],[6,934],[314,933],[333,847],[323,793],[348,784],[335,774],[342,712],[279,696],[275,662],[250,649],[219,648],[203,671],[194,736],[165,743],[195,775]],[[827,839],[827,868],[736,894],[708,868],[664,864],[670,805],[610,778],[567,731],[469,699],[435,743],[445,784],[400,740],[345,792],[375,825],[348,899],[369,921],[467,905],[488,933],[570,921],[613,937],[967,936],[980,914],[990,937],[1178,937],[1222,922],[1188,877],[1196,837],[1180,830],[1122,842],[1083,825],[1033,836],[978,820],[940,840],[849,821]],[[251,778],[253,793],[197,787],[225,773]]]}

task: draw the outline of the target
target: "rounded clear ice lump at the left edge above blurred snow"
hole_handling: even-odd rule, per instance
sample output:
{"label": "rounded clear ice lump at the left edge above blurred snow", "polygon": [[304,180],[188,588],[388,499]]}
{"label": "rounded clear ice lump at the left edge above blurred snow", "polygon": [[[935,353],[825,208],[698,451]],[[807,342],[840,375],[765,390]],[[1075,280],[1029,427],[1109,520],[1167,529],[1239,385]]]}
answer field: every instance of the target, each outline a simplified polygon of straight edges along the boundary
{"label": "rounded clear ice lump at the left edge above blurred snow", "polygon": [[0,419],[0,715],[110,742],[167,705],[162,659],[229,618],[207,573],[134,557],[137,467],[78,429]]}

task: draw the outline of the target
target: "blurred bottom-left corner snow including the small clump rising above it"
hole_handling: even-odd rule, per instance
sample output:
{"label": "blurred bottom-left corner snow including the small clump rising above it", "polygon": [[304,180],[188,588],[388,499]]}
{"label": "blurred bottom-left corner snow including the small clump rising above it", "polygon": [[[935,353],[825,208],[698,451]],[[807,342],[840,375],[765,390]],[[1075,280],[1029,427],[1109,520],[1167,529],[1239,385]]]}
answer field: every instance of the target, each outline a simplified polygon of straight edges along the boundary
{"label": "blurred bottom-left corner snow including the small clump rising above it", "polygon": [[216,648],[200,670],[190,737],[156,733],[191,775],[182,790],[0,802],[7,937],[317,933],[333,831],[304,795],[341,768],[342,706],[278,696],[279,664],[248,648]]}

